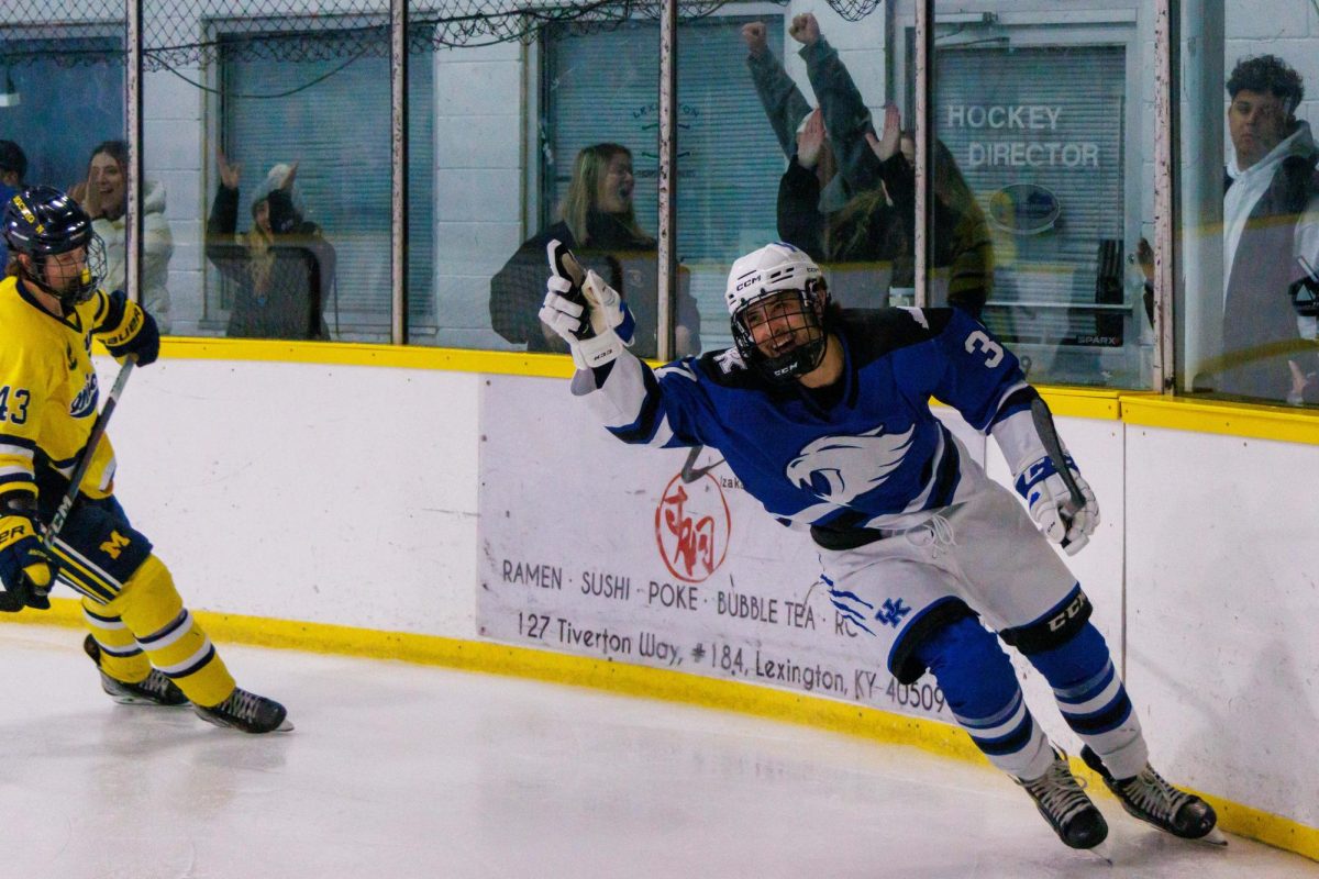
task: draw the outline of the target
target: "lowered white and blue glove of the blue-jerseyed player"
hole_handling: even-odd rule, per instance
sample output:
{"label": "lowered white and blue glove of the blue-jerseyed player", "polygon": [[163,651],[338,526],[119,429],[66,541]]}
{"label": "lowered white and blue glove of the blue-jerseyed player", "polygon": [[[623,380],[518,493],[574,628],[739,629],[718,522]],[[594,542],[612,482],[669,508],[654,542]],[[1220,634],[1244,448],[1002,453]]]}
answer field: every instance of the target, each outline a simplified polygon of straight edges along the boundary
{"label": "lowered white and blue glove of the blue-jerseyed player", "polygon": [[[1042,405],[1043,401],[1038,402]],[[1045,412],[1047,414],[1047,409]],[[1026,501],[1035,527],[1050,543],[1059,544],[1063,552],[1076,555],[1099,527],[1099,501],[1080,474],[1076,461],[1053,431],[1051,418],[1045,430],[1051,436],[1041,436],[1031,412],[1022,411],[995,424],[992,432],[1012,467],[1013,486]],[[1050,440],[1049,444],[1057,444],[1055,452],[1062,456],[1066,476],[1058,469],[1046,439]]]}

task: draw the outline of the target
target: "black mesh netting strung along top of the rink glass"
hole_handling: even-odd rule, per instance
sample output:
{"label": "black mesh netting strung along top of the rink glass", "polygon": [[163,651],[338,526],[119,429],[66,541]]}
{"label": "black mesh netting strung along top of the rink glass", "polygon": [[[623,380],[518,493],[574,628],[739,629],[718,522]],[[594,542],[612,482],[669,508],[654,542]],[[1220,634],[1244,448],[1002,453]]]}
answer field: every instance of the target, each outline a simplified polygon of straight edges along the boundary
{"label": "black mesh netting strung along top of the rink glass", "polygon": [[[787,0],[774,0],[786,4]],[[694,20],[727,0],[681,0]],[[871,14],[881,0],[830,0],[844,18]],[[525,0],[446,0],[409,8],[413,51],[532,41],[549,25],[590,33],[629,20],[658,18],[656,0],[537,4]],[[145,0],[148,70],[198,66],[219,57],[326,61],[388,55],[386,0]],[[0,66],[37,58],[75,66],[123,63],[124,0],[7,0],[0,4]]]}

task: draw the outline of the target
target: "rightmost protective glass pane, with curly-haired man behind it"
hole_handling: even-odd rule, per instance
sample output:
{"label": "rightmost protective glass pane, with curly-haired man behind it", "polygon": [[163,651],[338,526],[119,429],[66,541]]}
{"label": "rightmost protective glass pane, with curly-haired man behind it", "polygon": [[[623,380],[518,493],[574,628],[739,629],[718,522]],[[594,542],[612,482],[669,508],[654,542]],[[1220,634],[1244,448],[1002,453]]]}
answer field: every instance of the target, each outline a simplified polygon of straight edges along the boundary
{"label": "rightmost protective glass pane, with curly-haired man behind it", "polygon": [[1304,16],[1221,0],[1183,7],[1182,391],[1319,405],[1319,150],[1306,34]]}

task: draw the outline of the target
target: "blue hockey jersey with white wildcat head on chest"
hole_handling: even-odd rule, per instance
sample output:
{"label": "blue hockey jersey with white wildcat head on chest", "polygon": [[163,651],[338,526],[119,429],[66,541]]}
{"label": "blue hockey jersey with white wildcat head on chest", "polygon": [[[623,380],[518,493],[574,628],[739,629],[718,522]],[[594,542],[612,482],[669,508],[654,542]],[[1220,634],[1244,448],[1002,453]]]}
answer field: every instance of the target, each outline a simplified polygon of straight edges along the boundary
{"label": "blue hockey jersey with white wildcat head on chest", "polygon": [[830,329],[844,368],[827,389],[770,383],[728,349],[656,372],[624,354],[579,373],[574,393],[628,443],[719,449],[780,522],[830,531],[910,527],[985,480],[931,397],[988,432],[1037,395],[1012,352],[955,308],[848,311]]}

